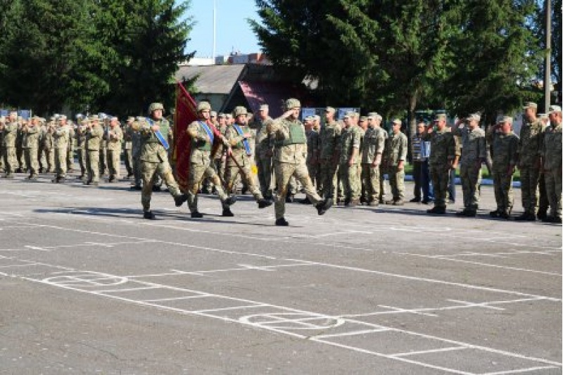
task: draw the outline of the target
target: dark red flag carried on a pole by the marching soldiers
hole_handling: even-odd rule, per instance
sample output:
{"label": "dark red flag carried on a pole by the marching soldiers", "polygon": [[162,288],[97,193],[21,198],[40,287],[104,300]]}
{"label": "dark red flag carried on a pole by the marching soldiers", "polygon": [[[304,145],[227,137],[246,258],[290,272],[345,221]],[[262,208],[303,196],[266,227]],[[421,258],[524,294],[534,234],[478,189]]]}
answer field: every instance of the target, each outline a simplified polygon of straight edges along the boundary
{"label": "dark red flag carried on a pole by the marching soldiers", "polygon": [[182,83],[176,85],[176,115],[174,117],[174,153],[176,180],[182,189],[188,186],[189,156],[191,139],[187,134],[188,125],[197,120],[197,105]]}

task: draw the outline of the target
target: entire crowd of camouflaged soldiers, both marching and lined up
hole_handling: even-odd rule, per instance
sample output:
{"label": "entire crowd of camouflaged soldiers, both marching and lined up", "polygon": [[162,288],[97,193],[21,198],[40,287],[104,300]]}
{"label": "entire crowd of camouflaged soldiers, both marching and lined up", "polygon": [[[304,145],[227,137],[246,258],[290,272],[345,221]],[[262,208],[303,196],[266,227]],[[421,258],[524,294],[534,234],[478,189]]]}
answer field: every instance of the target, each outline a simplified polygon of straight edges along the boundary
{"label": "entire crowd of camouflaged soldiers, both marching and lined up", "polygon": [[[222,215],[234,216],[231,207],[241,183],[242,191],[252,193],[258,208],[274,203],[275,224],[286,226],[285,204],[293,202],[299,189],[306,196],[302,203],[315,205],[319,215],[333,203],[347,207],[404,205],[410,147],[415,165],[415,198],[410,201],[431,203],[431,180],[434,207],[427,210],[430,214],[446,212],[448,185],[459,166],[464,208],[456,215],[476,216],[481,167],[486,163],[492,167],[497,205],[491,217],[510,218],[512,177],[517,168],[524,212],[516,220],[562,221],[559,106],[538,115],[536,103],[526,103],[520,136],[512,131],[512,117],[502,117],[485,132],[479,127],[479,114],[458,120],[453,127],[439,114],[431,124],[420,122],[410,141],[401,132],[401,120],[394,119],[388,133],[381,127],[381,115],[374,112],[365,117],[348,112],[339,122],[336,110],[327,107],[321,125],[318,115],[305,117],[304,123],[299,120],[301,103],[295,98],[285,102],[285,110],[281,117],[272,119],[267,104],[249,115],[243,106],[234,108],[232,114],[217,114],[209,103],[199,103],[198,119],[186,131],[191,142],[186,188],[177,184],[172,172],[172,128],[160,103],[151,104],[148,117],[129,117],[124,125],[110,116],[78,116],[75,125],[64,115],[47,122],[37,116],[22,119],[11,112],[0,117],[0,170],[8,179],[15,173],[29,172],[26,178],[31,181],[37,180],[39,173],[53,173],[52,182],[62,183],[74,168],[76,151],[78,178],[86,185],[98,186],[106,169],[108,183],[120,179],[123,152],[126,178],[133,178],[131,189],[141,190],[146,219],[155,218],[151,194],[163,182],[175,205],[187,201],[194,218],[203,217],[198,210],[201,191],[214,191],[220,198]],[[384,199],[384,174],[391,186],[388,200]]]}

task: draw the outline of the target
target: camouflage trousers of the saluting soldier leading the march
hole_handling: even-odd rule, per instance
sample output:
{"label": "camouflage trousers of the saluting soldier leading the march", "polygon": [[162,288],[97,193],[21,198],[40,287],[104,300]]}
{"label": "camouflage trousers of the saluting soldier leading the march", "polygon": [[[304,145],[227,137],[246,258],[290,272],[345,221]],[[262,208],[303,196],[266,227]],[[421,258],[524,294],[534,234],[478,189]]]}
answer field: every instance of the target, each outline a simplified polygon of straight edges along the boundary
{"label": "camouflage trousers of the saluting soldier leading the march", "polygon": [[295,177],[298,182],[301,182],[305,190],[305,196],[309,201],[316,205],[322,201],[322,198],[317,194],[315,186],[312,186],[311,179],[307,166],[303,164],[292,163],[274,163],[274,173],[276,176],[277,193],[274,198],[274,212],[276,220],[284,217],[286,213],[286,195],[291,177]]}

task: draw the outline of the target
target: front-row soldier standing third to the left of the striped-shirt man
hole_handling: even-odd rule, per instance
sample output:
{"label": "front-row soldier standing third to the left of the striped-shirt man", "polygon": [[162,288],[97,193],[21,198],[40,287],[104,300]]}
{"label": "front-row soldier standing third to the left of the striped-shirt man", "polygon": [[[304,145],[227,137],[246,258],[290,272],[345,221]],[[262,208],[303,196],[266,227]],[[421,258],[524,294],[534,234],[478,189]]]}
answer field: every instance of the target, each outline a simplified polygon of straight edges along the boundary
{"label": "front-row soldier standing third to the left of the striped-shirt man", "polygon": [[358,114],[348,112],[344,116],[344,129],[339,146],[339,177],[344,188],[344,205],[355,207],[360,203],[359,166],[361,162],[360,142],[362,131],[357,125]]}

